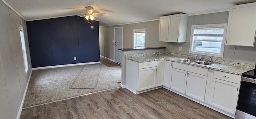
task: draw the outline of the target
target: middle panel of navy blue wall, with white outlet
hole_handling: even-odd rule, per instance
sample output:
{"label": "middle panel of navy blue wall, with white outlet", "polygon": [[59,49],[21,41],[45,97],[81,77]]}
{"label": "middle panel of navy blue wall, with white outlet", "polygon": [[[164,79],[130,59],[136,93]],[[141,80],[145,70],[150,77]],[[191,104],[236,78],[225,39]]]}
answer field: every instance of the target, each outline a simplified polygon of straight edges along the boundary
{"label": "middle panel of navy blue wall, with white outlet", "polygon": [[[79,62],[77,17],[49,20],[52,48],[52,64],[74,64]],[[77,60],[74,60],[77,57]]]}

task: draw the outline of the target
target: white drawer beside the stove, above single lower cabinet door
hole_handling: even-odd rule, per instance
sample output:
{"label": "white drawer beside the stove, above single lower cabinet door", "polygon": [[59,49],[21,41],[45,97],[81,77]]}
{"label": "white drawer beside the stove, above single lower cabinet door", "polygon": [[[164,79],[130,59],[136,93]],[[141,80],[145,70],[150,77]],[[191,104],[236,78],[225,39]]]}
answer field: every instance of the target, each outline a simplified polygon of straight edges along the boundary
{"label": "white drawer beside the stove, above single lower cabinet door", "polygon": [[225,81],[233,82],[236,84],[240,84],[241,82],[241,75],[230,74],[230,73],[220,72],[216,70],[214,70],[213,78],[218,78],[220,80],[225,80]]}

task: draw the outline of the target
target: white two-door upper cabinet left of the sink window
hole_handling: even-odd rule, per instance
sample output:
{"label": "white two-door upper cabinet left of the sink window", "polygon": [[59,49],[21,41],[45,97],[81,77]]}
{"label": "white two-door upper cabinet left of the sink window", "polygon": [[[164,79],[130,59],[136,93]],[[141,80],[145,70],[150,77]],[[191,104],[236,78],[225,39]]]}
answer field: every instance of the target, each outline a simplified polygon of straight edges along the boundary
{"label": "white two-door upper cabinet left of the sink window", "polygon": [[175,43],[186,42],[187,25],[187,14],[174,14],[160,17],[159,41]]}

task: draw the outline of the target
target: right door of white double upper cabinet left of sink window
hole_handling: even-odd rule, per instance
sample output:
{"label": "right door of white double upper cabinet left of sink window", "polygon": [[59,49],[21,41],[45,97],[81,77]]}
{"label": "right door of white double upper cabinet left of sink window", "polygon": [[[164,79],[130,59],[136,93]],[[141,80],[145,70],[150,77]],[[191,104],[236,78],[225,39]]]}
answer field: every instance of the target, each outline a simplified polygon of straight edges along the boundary
{"label": "right door of white double upper cabinet left of sink window", "polygon": [[180,16],[170,17],[168,42],[178,42],[178,34],[180,30]]}

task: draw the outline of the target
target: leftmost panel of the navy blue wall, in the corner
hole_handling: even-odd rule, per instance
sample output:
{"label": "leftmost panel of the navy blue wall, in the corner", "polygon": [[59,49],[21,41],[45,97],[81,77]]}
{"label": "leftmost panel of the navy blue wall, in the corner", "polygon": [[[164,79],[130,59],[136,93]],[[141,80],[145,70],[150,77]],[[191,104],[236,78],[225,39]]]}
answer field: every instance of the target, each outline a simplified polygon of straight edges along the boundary
{"label": "leftmost panel of the navy blue wall, in the corner", "polygon": [[52,66],[48,20],[28,21],[27,29],[32,67]]}

